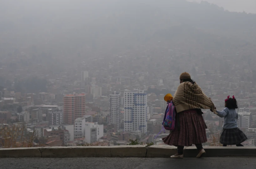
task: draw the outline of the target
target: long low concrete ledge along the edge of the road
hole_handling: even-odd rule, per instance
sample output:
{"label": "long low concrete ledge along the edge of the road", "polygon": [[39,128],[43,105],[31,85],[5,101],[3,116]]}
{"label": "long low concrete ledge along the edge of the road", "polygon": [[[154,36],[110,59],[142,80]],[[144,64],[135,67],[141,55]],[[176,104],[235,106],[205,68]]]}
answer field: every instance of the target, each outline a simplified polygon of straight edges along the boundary
{"label": "long low concrete ledge along the edge of the road", "polygon": [[[256,147],[204,147],[206,157],[256,156]],[[3,148],[0,158],[21,157],[162,157],[169,158],[177,152],[176,147],[167,145],[137,146],[74,146]],[[185,147],[184,157],[196,157],[196,147]]]}

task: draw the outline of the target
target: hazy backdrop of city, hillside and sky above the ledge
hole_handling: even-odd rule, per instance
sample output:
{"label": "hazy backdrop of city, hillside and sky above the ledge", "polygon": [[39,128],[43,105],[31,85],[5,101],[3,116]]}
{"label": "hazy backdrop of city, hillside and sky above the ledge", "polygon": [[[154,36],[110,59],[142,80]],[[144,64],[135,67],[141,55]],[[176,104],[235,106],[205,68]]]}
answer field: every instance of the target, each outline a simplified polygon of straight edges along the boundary
{"label": "hazy backdrop of city, hillside and sky above the ledge", "polygon": [[234,95],[254,147],[255,65],[255,0],[0,0],[0,148],[164,145],[184,72],[214,104],[202,146]]}

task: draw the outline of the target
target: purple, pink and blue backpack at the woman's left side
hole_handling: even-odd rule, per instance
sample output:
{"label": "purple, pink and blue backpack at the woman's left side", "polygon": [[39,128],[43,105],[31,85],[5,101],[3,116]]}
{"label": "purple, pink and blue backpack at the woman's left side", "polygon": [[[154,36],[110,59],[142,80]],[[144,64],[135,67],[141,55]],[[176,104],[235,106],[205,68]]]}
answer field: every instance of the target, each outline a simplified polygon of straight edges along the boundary
{"label": "purple, pink and blue backpack at the woman's left side", "polygon": [[171,101],[170,103],[168,103],[168,106],[164,114],[163,123],[162,123],[163,127],[166,130],[172,130],[172,131],[174,130],[175,115],[176,115],[175,106],[173,104],[173,101]]}

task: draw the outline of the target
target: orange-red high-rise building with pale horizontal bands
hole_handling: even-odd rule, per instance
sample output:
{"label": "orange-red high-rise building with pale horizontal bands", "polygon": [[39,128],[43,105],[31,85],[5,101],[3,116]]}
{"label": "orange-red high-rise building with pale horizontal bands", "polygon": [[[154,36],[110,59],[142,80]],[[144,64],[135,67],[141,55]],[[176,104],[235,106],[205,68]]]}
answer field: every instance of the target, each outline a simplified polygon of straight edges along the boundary
{"label": "orange-red high-rise building with pale horizontal bands", "polygon": [[64,123],[74,124],[75,119],[85,115],[85,94],[64,96]]}

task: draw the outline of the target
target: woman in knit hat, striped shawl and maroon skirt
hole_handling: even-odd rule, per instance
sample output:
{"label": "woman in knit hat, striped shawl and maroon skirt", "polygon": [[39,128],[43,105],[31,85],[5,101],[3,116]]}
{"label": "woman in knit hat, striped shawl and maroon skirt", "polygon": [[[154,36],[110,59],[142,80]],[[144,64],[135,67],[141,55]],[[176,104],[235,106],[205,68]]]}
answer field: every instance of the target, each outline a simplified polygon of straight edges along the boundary
{"label": "woman in knit hat, striped shawl and maroon skirt", "polygon": [[198,150],[196,157],[202,157],[206,153],[202,143],[207,142],[207,127],[201,109],[214,110],[213,102],[190,75],[184,72],[180,75],[180,85],[175,92],[173,103],[177,111],[175,129],[163,138],[165,144],[178,148],[178,152],[171,158],[183,158],[184,146],[192,146],[192,144],[195,144]]}

